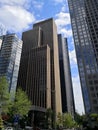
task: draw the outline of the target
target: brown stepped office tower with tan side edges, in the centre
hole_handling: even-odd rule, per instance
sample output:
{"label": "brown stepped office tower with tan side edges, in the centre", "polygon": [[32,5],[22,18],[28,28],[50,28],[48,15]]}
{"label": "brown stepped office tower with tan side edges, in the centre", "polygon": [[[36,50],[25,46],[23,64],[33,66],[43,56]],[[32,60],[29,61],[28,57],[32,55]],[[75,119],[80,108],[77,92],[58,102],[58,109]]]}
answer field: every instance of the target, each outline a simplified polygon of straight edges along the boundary
{"label": "brown stepped office tower with tan side edges, in the centre", "polygon": [[52,108],[61,112],[61,90],[58,59],[57,29],[54,20],[34,24],[23,33],[23,49],[18,86],[32,101],[33,111]]}

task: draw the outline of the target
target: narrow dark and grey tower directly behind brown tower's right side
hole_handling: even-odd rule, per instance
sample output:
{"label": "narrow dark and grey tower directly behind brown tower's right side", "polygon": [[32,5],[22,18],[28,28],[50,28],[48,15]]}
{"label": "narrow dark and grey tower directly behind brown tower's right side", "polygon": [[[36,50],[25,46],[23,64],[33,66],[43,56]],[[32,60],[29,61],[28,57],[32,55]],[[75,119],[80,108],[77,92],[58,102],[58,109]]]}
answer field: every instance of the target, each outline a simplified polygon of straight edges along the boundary
{"label": "narrow dark and grey tower directly behind brown tower's right side", "polygon": [[62,112],[74,115],[74,97],[72,90],[71,70],[68,54],[67,39],[58,35],[59,66],[62,96]]}

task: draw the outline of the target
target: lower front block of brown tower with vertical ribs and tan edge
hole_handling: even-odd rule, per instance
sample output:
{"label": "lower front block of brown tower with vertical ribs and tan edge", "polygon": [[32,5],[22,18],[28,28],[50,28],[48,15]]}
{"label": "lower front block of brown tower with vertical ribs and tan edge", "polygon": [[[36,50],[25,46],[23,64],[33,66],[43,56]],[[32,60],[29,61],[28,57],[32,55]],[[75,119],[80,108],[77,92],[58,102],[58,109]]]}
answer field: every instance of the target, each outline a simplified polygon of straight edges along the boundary
{"label": "lower front block of brown tower with vertical ribs and tan edge", "polygon": [[32,109],[45,110],[45,108],[51,108],[50,79],[50,48],[45,45],[31,49],[28,60],[26,91],[32,101]]}

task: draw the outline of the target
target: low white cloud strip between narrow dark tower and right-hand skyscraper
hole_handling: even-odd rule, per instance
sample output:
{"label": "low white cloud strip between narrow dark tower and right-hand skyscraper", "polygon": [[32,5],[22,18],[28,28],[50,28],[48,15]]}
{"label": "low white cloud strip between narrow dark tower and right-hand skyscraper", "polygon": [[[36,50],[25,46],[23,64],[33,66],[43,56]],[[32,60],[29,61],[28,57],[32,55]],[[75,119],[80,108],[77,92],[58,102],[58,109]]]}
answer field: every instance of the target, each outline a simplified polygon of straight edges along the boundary
{"label": "low white cloud strip between narrow dark tower and right-hand skyscraper", "polygon": [[72,77],[72,81],[76,110],[79,114],[84,114],[84,104],[82,99],[79,76],[77,75],[76,77]]}

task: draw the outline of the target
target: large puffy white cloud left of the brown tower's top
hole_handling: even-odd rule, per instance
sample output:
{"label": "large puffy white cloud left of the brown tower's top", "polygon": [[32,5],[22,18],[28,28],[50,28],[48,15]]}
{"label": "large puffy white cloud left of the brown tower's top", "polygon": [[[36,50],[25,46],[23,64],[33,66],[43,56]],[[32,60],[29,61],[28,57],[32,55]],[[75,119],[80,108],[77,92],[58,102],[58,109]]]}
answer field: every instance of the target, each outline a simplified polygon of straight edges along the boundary
{"label": "large puffy white cloud left of the brown tower's top", "polygon": [[6,5],[0,8],[0,21],[8,30],[18,32],[28,28],[35,17],[22,7]]}

